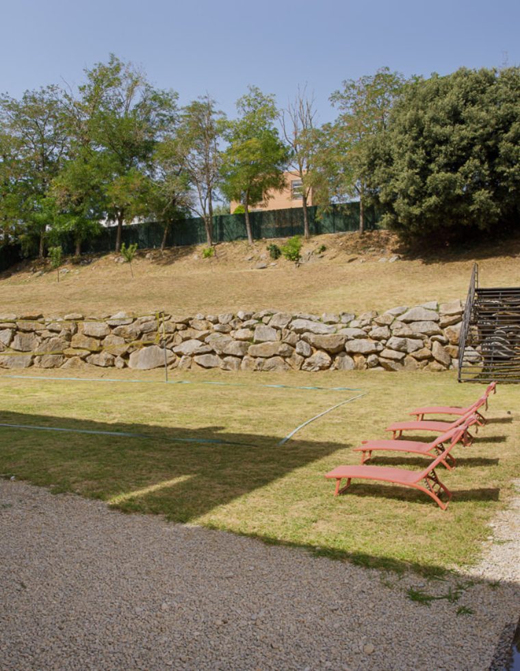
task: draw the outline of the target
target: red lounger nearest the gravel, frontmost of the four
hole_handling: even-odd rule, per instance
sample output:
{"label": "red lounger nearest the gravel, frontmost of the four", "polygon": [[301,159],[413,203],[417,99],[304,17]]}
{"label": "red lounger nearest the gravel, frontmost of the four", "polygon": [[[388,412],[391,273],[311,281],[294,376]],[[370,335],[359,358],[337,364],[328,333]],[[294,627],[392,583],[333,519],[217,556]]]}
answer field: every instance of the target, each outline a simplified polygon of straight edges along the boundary
{"label": "red lounger nearest the gravel, frontmost of the four", "polygon": [[[334,470],[331,470],[330,473],[327,473],[325,477],[330,479],[335,478],[335,496],[343,494],[353,478],[378,480],[380,482],[391,482],[394,485],[411,487],[420,492],[424,492],[425,494],[428,494],[441,509],[445,510],[447,508],[447,503],[443,503],[439,498],[439,495],[444,492],[448,501],[450,501],[452,493],[448,490],[446,485],[441,483],[439,477],[437,477],[435,468],[441,464],[441,462],[445,463],[452,447],[452,444],[448,445],[445,451],[429,464],[428,468],[420,471],[406,470],[406,468],[388,468],[385,466],[338,466]],[[347,484],[341,488],[340,485],[343,478],[346,478]]]}

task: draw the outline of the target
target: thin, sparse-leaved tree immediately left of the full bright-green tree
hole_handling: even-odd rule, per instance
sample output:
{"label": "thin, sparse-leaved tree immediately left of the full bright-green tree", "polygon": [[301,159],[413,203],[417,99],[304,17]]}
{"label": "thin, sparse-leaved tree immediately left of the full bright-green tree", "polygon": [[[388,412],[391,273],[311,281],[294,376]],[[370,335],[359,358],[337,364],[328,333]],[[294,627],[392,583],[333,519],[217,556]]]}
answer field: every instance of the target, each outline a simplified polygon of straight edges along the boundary
{"label": "thin, sparse-leaved tree immediately left of the full bright-green tree", "polygon": [[183,108],[176,138],[170,145],[171,155],[177,154],[194,190],[188,207],[203,219],[208,246],[213,244],[213,199],[220,179],[223,123],[224,114],[206,94]]}

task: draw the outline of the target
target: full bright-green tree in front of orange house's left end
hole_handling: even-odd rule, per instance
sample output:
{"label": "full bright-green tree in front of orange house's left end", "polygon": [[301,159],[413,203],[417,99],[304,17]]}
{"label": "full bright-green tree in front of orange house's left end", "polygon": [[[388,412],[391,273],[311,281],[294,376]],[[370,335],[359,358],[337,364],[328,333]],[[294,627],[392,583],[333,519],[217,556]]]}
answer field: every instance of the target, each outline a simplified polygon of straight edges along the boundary
{"label": "full bright-green tree in front of orange house's left end", "polygon": [[237,101],[238,118],[226,125],[229,147],[222,159],[222,192],[244,205],[248,243],[252,244],[249,207],[285,186],[288,151],[274,127],[278,113],[273,95],[256,86]]}

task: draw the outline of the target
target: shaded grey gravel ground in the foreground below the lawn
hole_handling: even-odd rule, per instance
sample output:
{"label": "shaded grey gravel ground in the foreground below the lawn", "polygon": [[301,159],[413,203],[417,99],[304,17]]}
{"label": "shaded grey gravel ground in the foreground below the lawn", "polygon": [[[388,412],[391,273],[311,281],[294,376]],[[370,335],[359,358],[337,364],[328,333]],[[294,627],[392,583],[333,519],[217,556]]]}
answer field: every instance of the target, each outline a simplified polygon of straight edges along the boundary
{"label": "shaded grey gravel ground in the foreground below the lawn", "polygon": [[519,516],[520,499],[490,532],[504,542],[465,572],[483,581],[428,608],[408,587],[445,594],[460,575],[399,578],[1,480],[0,668],[499,668],[519,616]]}

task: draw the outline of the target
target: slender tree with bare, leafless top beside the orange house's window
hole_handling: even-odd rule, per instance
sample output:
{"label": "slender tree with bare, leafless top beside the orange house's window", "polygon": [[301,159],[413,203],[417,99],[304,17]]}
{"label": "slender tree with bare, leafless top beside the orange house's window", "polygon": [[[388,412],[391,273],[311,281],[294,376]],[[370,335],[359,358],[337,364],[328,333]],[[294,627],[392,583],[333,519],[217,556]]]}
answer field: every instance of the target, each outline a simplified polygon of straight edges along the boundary
{"label": "slender tree with bare, leafless top beside the orange house's window", "polygon": [[302,181],[303,229],[306,239],[310,237],[307,201],[317,175],[315,166],[320,147],[320,133],[315,125],[314,95],[307,96],[307,88],[298,86],[294,100],[281,110],[280,121],[285,141],[290,148],[290,167]]}

